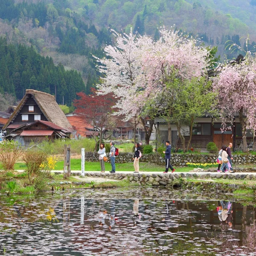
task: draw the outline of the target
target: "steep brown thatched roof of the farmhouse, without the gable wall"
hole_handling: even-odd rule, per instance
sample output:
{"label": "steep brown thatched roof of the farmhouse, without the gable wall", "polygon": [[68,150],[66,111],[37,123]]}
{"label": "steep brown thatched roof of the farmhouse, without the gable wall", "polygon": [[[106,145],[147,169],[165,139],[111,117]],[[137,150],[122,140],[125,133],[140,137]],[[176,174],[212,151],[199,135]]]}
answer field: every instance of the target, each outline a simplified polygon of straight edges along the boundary
{"label": "steep brown thatched roof of the farmhouse, without the gable wall", "polygon": [[17,108],[15,108],[15,111],[12,113],[12,116],[9,118],[8,122],[4,126],[4,129],[6,129],[6,127],[12,122],[12,119],[17,116],[17,113],[19,113],[20,109],[23,107],[29,95],[31,95],[32,98],[35,100],[38,107],[44,113],[44,116],[49,122],[52,122],[55,125],[58,125],[66,130],[73,131],[72,125],[70,125],[70,122],[68,122],[67,117],[57,104],[54,96],[48,93],[30,89],[26,90],[25,96],[22,98]]}

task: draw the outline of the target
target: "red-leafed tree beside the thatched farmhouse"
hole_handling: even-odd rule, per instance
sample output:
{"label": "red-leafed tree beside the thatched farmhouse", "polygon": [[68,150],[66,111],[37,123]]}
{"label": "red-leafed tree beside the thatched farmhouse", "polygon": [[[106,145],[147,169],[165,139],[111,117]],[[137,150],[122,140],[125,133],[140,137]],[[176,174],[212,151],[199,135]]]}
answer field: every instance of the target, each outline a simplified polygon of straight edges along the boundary
{"label": "red-leafed tree beside the thatched farmhouse", "polygon": [[75,112],[84,119],[85,123],[93,126],[96,151],[97,144],[101,144],[102,139],[108,139],[112,135],[116,123],[116,117],[113,117],[115,109],[112,107],[116,104],[116,100],[112,93],[97,95],[96,89],[92,89],[90,95],[83,92],[77,95],[80,99],[74,100]]}

